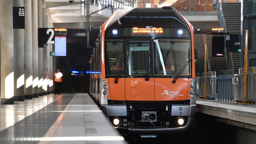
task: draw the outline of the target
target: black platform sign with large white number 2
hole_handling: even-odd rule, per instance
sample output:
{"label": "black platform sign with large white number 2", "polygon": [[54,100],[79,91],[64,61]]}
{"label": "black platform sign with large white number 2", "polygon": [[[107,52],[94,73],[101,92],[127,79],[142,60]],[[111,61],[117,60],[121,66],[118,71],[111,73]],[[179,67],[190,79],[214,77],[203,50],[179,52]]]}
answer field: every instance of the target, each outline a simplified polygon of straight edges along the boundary
{"label": "black platform sign with large white number 2", "polygon": [[43,48],[44,44],[54,44],[53,28],[38,28],[38,47]]}

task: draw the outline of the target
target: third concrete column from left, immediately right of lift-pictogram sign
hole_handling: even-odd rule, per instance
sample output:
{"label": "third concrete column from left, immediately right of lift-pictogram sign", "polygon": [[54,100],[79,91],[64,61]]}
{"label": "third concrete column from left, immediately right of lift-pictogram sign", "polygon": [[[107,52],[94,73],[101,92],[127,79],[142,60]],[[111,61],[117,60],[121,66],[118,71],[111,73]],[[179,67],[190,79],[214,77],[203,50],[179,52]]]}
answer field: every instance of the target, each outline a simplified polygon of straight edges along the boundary
{"label": "third concrete column from left, immediately right of lift-pictogram sign", "polygon": [[25,33],[24,33],[24,98],[32,99],[32,3],[24,0]]}

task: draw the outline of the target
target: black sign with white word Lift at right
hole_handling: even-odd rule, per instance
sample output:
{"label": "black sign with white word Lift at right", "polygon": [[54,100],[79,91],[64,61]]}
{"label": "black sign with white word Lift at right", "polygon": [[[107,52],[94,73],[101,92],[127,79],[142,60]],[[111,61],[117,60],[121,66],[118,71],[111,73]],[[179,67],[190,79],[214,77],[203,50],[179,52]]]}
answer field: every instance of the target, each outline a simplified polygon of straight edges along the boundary
{"label": "black sign with white word Lift at right", "polygon": [[226,48],[229,49],[230,52],[239,52],[239,50],[241,49],[241,35],[226,35]]}

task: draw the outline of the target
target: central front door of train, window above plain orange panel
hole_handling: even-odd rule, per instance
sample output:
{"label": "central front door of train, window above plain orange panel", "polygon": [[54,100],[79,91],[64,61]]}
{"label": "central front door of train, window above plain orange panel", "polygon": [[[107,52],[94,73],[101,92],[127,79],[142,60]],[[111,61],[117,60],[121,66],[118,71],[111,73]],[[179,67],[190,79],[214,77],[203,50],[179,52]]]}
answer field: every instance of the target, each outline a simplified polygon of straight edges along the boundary
{"label": "central front door of train, window above plain orange panel", "polygon": [[154,101],[151,40],[126,42],[125,100]]}

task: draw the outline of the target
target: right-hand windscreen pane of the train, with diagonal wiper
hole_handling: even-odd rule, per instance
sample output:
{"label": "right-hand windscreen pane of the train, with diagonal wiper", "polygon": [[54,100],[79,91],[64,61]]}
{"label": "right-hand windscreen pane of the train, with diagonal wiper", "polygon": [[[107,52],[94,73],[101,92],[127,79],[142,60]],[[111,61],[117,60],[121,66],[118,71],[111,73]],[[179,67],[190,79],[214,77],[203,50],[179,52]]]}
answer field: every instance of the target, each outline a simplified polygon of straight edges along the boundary
{"label": "right-hand windscreen pane of the train, with diagonal wiper", "polygon": [[[191,59],[190,40],[155,40],[155,74],[176,75]],[[189,65],[181,75],[189,75]]]}

